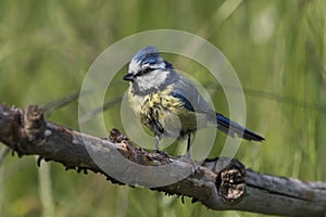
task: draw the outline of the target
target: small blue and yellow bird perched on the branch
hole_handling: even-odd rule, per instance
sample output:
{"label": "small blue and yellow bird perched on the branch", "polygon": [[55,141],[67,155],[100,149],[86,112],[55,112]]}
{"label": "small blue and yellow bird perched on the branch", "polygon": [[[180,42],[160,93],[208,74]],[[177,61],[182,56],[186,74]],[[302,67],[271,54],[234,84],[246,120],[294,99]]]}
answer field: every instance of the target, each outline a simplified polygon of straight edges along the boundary
{"label": "small blue and yellow bird perched on the branch", "polygon": [[162,137],[187,138],[190,156],[191,135],[216,127],[230,137],[263,141],[260,135],[215,112],[188,78],[178,74],[153,46],[139,50],[123,77],[129,81],[128,102],[136,117],[154,135],[155,148]]}

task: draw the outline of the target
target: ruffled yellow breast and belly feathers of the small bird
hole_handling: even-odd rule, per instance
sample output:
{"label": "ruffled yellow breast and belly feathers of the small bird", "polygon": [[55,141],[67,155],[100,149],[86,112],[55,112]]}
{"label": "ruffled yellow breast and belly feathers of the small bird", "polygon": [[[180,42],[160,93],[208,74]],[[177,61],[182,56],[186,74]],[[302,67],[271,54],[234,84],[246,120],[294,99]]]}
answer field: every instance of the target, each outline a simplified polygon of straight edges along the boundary
{"label": "ruffled yellow breast and belly feathers of the small bird", "polygon": [[[180,99],[173,97],[172,89],[153,92],[145,97],[129,91],[129,102],[140,122],[154,133],[167,133],[181,137],[197,130],[203,122],[204,114],[197,114],[185,107]],[[200,117],[202,116],[202,117]],[[199,118],[198,118],[199,117]],[[198,123],[199,120],[199,123]],[[202,122],[203,120],[203,122]]]}

